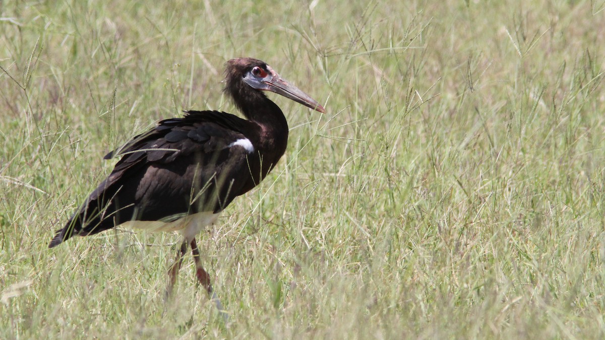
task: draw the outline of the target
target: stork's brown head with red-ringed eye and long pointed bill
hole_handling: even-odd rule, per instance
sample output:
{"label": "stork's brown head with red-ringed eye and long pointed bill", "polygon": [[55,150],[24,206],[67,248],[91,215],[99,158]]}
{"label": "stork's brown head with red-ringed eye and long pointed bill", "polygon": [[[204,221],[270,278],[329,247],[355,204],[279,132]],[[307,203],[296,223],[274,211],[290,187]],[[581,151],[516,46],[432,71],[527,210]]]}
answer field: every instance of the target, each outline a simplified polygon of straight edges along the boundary
{"label": "stork's brown head with red-ringed eye and long pointed bill", "polygon": [[264,99],[265,96],[262,91],[271,91],[313,110],[325,113],[324,107],[319,105],[316,100],[287,82],[273,71],[273,68],[258,59],[237,58],[229,60],[225,65],[225,82],[225,91],[231,94],[242,110],[246,109],[240,104],[244,100]]}

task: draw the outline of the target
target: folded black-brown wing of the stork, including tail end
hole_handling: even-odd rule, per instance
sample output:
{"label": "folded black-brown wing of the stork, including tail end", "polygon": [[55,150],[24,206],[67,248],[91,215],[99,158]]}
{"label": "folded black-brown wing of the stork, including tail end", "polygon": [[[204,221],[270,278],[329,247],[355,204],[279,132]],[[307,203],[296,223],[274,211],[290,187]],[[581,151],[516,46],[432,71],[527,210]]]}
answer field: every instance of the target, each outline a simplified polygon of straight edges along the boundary
{"label": "folded black-brown wing of the stork, including tail end", "polygon": [[217,111],[188,111],[183,118],[163,120],[105,156],[122,159],[57,230],[49,247],[130,220],[171,221],[223,210],[260,181],[258,153],[234,145],[255,128],[255,123]]}

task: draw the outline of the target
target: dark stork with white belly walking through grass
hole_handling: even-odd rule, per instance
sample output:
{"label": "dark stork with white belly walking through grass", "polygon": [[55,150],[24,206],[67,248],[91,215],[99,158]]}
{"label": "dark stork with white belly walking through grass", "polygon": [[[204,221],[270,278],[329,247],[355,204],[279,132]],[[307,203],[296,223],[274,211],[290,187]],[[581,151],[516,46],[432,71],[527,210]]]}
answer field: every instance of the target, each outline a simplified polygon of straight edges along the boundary
{"label": "dark stork with white belly walking through grass", "polygon": [[238,58],[225,67],[224,91],[247,118],[218,111],[186,111],[162,120],[105,155],[122,158],[88,196],[48,247],[124,225],[178,230],[185,240],[168,270],[166,296],[191,245],[197,280],[219,310],[210,277],[200,264],[195,236],[214,223],[235,197],[260,183],[286,151],[288,124],[263,91],[324,113],[324,108],[261,60]]}

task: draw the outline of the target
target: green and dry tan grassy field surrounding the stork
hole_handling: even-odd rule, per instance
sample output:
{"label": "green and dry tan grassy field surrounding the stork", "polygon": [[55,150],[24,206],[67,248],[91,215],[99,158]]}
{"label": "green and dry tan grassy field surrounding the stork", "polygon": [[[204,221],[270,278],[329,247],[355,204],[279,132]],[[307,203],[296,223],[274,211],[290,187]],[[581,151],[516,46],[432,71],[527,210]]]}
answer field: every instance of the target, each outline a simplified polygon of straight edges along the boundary
{"label": "green and dry tan grassy field surrounding the stork", "polygon": [[[235,113],[232,57],[288,150],[198,241],[47,249],[106,152],[181,110]],[[0,1],[0,338],[605,337],[605,1]]]}

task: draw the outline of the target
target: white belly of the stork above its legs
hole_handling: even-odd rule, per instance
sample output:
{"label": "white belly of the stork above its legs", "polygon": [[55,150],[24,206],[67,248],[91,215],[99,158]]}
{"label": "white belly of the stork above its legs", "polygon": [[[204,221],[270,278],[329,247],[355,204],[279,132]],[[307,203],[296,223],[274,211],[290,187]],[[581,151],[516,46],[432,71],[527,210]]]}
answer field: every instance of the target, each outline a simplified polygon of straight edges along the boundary
{"label": "white belly of the stork above its legs", "polygon": [[162,221],[128,221],[120,224],[120,226],[133,229],[144,229],[152,232],[158,231],[178,231],[188,241],[193,240],[195,235],[199,234],[205,226],[214,223],[220,213],[214,212],[198,212],[193,215],[186,215],[172,222]]}

